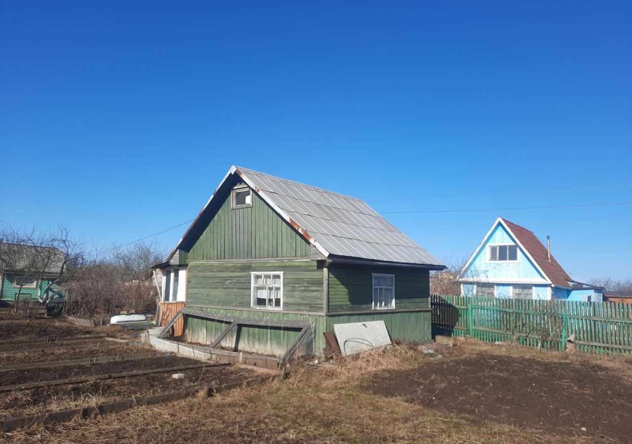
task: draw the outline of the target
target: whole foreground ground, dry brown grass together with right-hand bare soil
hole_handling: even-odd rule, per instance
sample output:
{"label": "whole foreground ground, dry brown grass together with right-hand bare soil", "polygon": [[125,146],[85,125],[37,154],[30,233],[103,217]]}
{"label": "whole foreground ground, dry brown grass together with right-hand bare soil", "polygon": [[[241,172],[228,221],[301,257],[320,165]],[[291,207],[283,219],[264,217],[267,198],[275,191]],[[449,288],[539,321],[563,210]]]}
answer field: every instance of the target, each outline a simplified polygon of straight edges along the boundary
{"label": "whole foreground ground, dry brown grass together with right-hand bare soil", "polygon": [[475,340],[3,436],[41,443],[629,443],[632,359]]}

